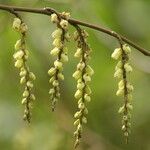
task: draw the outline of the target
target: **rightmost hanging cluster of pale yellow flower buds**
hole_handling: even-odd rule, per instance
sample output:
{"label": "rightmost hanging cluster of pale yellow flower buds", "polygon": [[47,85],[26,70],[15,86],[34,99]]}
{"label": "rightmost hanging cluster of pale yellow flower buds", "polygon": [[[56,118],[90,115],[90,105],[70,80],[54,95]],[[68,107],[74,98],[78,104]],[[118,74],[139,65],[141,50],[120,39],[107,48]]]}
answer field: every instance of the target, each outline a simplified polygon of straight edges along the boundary
{"label": "rightmost hanging cluster of pale yellow flower buds", "polygon": [[115,68],[114,77],[118,78],[120,81],[118,83],[118,90],[116,92],[117,96],[124,97],[124,104],[119,108],[118,113],[122,114],[122,131],[128,141],[128,136],[130,134],[131,128],[131,111],[133,109],[131,100],[133,91],[133,85],[127,81],[127,75],[132,72],[132,67],[129,63],[129,54],[131,49],[126,44],[122,45],[121,48],[115,49],[111,57],[115,60],[118,60],[118,63]]}

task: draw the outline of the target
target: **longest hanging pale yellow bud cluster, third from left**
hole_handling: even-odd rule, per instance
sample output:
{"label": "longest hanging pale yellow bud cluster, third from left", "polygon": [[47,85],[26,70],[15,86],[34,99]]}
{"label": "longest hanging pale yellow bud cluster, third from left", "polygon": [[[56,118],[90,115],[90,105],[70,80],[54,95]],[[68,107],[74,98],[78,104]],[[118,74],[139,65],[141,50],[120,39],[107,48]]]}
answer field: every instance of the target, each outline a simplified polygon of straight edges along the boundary
{"label": "longest hanging pale yellow bud cluster, third from left", "polygon": [[76,131],[74,132],[76,138],[75,147],[77,147],[81,140],[83,124],[87,123],[86,115],[88,114],[88,109],[86,104],[91,101],[91,89],[88,83],[91,81],[94,71],[88,65],[91,49],[86,43],[87,33],[84,30],[79,30],[75,32],[75,36],[78,47],[74,57],[80,59],[77,70],[73,73],[73,77],[77,80],[77,91],[74,95],[78,101],[78,111],[74,115],[74,125],[76,126]]}

